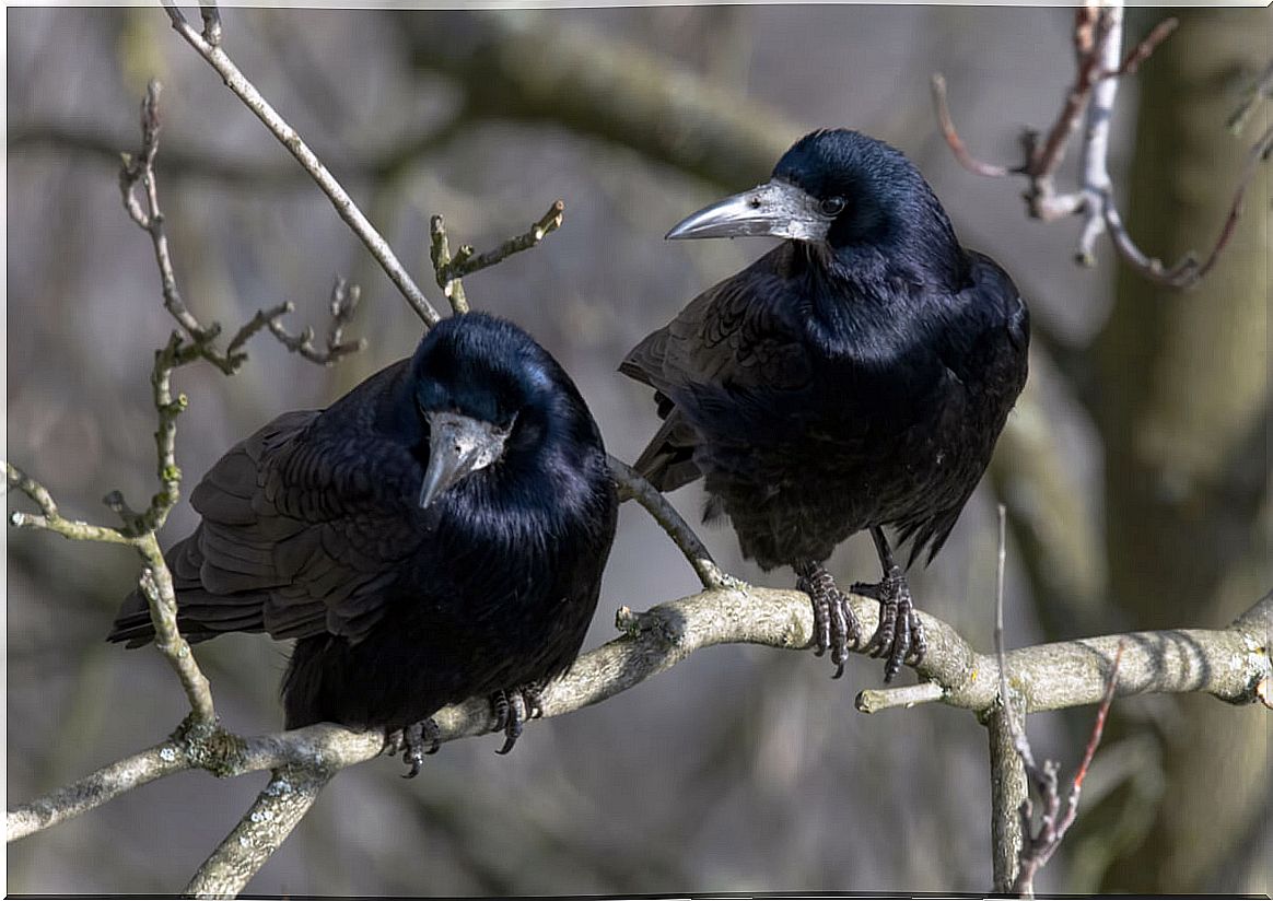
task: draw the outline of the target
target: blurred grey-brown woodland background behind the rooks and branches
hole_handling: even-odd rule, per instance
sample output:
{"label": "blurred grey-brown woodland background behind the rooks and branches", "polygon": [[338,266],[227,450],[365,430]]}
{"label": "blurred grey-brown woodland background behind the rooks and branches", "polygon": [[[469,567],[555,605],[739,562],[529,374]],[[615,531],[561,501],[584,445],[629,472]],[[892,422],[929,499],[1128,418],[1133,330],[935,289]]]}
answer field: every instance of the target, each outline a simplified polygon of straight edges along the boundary
{"label": "blurred grey-brown woodland background behind the rooks and branches", "polygon": [[[1225,121],[1267,64],[1268,10],[1178,10],[1183,23],[1124,81],[1111,171],[1142,247],[1208,251],[1246,148]],[[369,347],[330,369],[269,337],[233,378],[181,370],[186,489],[279,412],[328,403],[410,354],[420,326],[327,201],[173,33],[159,9],[9,9],[8,448],[65,513],[109,523],[101,498],[154,491],[151,353],[173,328],[149,239],[125,215],[118,153],[163,81],[159,192],[178,277],[205,322],[233,330],[292,300],[293,331],[326,326],[337,274],[363,286],[349,330]],[[1129,37],[1160,19],[1129,14]],[[815,126],[904,149],[964,242],[1031,305],[1031,383],[992,472],[919,606],[990,648],[994,504],[1009,510],[1009,645],[1129,629],[1218,627],[1269,584],[1269,181],[1256,178],[1217,269],[1157,289],[1080,223],[1025,218],[1017,181],[961,169],[931,108],[946,74],[974,153],[1018,159],[1073,75],[1072,11],[871,6],[672,6],[495,13],[224,13],[225,47],[342,179],[430,289],[428,219],[452,247],[522,232],[558,197],[561,230],[466,281],[573,373],[608,448],[633,459],[656,428],[624,353],[764,241],[666,243],[685,214],[749,187]],[[1072,159],[1069,160],[1072,164]],[[1063,169],[1060,187],[1072,169]],[[672,496],[690,518],[698,486]],[[25,509],[10,496],[9,508]],[[187,503],[162,536],[193,526]],[[728,529],[703,529],[726,569],[773,585]],[[833,559],[876,578],[864,537]],[[185,697],[153,649],[103,636],[136,576],[118,547],[8,531],[9,804],[159,741]],[[625,505],[588,646],[615,608],[696,589],[653,522]],[[227,636],[197,649],[234,730],[281,725],[288,649]],[[987,737],[929,705],[867,718],[812,654],[713,648],[603,705],[500,738],[457,742],[414,781],[397,761],[346,770],[248,887],[298,895],[983,892],[990,884]],[[905,678],[905,677],[904,677]],[[1035,752],[1076,765],[1092,710],[1036,715]],[[1268,892],[1269,716],[1208,697],[1119,701],[1080,823],[1039,888]],[[154,783],[8,848],[13,892],[172,893],[237,822],[264,774]]]}

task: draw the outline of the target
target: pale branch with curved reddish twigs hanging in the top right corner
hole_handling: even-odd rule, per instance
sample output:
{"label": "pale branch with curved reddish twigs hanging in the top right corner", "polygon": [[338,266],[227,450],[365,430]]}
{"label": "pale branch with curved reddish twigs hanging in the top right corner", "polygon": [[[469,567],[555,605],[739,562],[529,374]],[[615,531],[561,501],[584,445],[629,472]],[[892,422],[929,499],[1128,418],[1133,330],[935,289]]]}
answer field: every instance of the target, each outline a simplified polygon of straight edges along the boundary
{"label": "pale branch with curved reddish twigs hanging in the top right corner", "polygon": [[[1039,132],[1034,130],[1023,132],[1025,162],[1015,168],[985,163],[969,153],[951,118],[946,80],[941,74],[932,78],[932,94],[946,144],[964,168],[979,176],[1023,176],[1029,182],[1023,195],[1026,211],[1035,219],[1054,221],[1071,215],[1083,216],[1083,228],[1074,253],[1076,262],[1083,266],[1095,265],[1096,242],[1108,232],[1118,253],[1142,276],[1167,288],[1184,289],[1197,285],[1228,244],[1241,214],[1242,197],[1255,176],[1255,167],[1268,158],[1273,136],[1265,132],[1251,149],[1234,192],[1228,219],[1204,262],[1198,262],[1198,255],[1186,253],[1169,267],[1137,247],[1114,202],[1113,179],[1109,174],[1109,132],[1118,94],[1118,79],[1134,74],[1178,25],[1179,20],[1174,18],[1160,22],[1124,57],[1120,55],[1123,4],[1080,6],[1074,11],[1074,81],[1066,93],[1066,101],[1046,137],[1040,139]],[[1273,64],[1251,89],[1244,106],[1230,118],[1231,127],[1245,121],[1260,97],[1273,93],[1270,85],[1273,85]],[[1081,186],[1078,191],[1057,193],[1054,185],[1057,169],[1064,159],[1071,139],[1080,130],[1085,109],[1087,127],[1083,130]]]}

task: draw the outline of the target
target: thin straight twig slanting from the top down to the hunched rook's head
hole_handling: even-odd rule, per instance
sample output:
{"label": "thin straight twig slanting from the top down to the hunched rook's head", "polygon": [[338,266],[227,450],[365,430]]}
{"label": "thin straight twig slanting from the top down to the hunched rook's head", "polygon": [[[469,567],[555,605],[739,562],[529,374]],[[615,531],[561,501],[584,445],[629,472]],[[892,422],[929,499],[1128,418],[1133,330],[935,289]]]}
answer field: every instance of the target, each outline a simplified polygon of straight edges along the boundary
{"label": "thin straight twig slanting from the top down to the hunched rook's head", "polygon": [[[204,34],[197,32],[187,20],[185,14],[177,8],[172,0],[163,0],[164,10],[168,13],[168,18],[172,20],[172,27],[186,39],[195,51],[207,61],[207,64],[216,70],[225,83],[225,87],[238,97],[248,109],[251,109],[257,118],[265,125],[266,129],[272,134],[300,163],[300,167],[309,173],[323,193],[331,200],[332,206],[336,207],[336,213],[341,219],[354,230],[354,234],[359,237],[367,249],[370,252],[376,261],[379,262],[381,267],[384,270],[390,280],[397,286],[398,291],[406,299],[407,304],[415,311],[415,314],[420,317],[425,326],[434,326],[442,318],[438,311],[433,308],[424,293],[416,286],[415,281],[407,274],[406,269],[398,262],[397,256],[393,249],[388,246],[388,242],[381,237],[381,233],[376,230],[376,227],[363,215],[363,211],[358,209],[358,205],[349,196],[349,192],[341,187],[336,177],[331,174],[322,160],[314,155],[314,151],[309,149],[309,145],[304,143],[300,134],[288,125],[270,103],[261,95],[261,92],[256,89],[247,76],[239,71],[234,61],[222,50],[219,43],[210,42]],[[201,8],[204,10],[204,20],[207,22],[210,9],[215,9],[215,4],[206,3]],[[215,29],[215,37],[220,37],[220,25],[218,20],[218,27]]]}

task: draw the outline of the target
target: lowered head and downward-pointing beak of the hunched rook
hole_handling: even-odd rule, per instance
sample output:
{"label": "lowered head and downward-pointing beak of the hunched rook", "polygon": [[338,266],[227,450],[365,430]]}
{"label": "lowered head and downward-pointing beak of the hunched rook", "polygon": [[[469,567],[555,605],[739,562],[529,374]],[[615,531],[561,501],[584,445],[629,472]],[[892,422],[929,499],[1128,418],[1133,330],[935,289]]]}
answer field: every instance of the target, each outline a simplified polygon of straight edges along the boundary
{"label": "lowered head and downward-pointing beak of the hunched rook", "polygon": [[484,313],[434,326],[415,353],[411,374],[429,442],[421,508],[472,473],[535,454],[563,406],[573,411],[570,398],[587,412],[546,350],[513,323]]}

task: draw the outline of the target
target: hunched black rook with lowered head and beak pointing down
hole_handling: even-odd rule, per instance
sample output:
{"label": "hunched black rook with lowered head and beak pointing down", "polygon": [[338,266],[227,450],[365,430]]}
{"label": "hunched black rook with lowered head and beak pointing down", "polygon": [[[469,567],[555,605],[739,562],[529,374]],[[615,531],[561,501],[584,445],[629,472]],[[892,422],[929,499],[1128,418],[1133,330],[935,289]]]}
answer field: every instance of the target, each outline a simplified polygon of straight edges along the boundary
{"label": "hunched black rook with lowered head and beak pointing down", "polygon": [[[619,500],[574,382],[526,332],[448,318],[326,410],[286,412],[193,490],[177,621],[295,639],[286,728],[383,728],[415,775],[442,706],[490,696],[502,752],[574,662]],[[154,638],[134,592],[109,635]]]}

